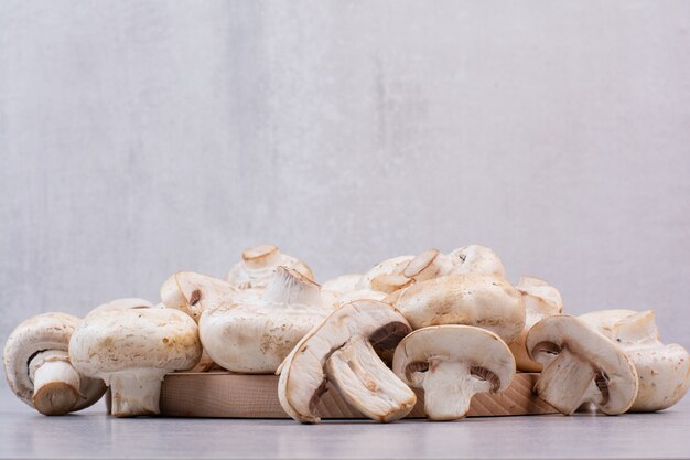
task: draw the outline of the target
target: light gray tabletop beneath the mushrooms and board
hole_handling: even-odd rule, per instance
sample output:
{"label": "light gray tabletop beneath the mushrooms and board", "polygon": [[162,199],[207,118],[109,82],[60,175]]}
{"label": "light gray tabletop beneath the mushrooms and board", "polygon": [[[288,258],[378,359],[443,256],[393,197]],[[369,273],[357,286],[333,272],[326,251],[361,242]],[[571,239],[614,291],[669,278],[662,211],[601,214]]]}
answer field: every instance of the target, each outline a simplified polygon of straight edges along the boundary
{"label": "light gray tabletop beneath the mushrooms and board", "polygon": [[368,421],[44,417],[0,389],[0,458],[690,458],[690,398],[658,414]]}

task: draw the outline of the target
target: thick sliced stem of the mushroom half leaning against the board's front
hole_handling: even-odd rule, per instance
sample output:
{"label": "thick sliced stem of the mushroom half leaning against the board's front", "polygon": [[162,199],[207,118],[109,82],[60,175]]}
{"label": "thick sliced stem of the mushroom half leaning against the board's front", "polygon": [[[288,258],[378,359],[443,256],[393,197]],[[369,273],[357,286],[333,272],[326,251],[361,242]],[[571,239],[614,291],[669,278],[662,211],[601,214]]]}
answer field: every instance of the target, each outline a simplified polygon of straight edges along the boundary
{"label": "thick sliced stem of the mushroom half leaning against the board's front", "polygon": [[362,338],[354,338],[326,361],[328,382],[352,406],[378,421],[408,415],[417,396]]}

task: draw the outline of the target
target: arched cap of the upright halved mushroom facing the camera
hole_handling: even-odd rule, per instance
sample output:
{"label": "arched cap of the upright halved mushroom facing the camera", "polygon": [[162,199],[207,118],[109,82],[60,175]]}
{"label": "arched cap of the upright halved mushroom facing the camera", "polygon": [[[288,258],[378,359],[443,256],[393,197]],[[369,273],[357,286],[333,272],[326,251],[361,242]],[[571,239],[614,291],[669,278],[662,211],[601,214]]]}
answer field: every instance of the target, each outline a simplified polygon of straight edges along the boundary
{"label": "arched cap of the upright halved mushroom facing the camera", "polygon": [[432,325],[407,335],[396,349],[392,368],[408,385],[418,386],[418,364],[432,360],[466,363],[475,370],[473,374],[490,382],[493,392],[507,388],[515,374],[515,359],[498,335],[455,324]]}

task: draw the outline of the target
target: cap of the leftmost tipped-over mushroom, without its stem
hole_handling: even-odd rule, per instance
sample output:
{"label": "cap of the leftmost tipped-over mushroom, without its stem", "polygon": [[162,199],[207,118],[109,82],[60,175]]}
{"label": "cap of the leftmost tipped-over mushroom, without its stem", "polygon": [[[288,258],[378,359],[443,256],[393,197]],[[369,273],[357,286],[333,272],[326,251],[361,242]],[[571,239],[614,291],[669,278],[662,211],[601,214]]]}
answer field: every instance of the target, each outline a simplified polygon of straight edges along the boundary
{"label": "cap of the leftmost tipped-over mushroom, without its stem", "polygon": [[[69,338],[82,320],[66,313],[43,313],[20,323],[4,345],[3,361],[8,385],[29,406],[33,404],[33,382],[29,365],[37,353],[56,350],[66,352]],[[73,410],[84,409],[106,393],[100,379],[82,376],[79,393],[84,396]]]}

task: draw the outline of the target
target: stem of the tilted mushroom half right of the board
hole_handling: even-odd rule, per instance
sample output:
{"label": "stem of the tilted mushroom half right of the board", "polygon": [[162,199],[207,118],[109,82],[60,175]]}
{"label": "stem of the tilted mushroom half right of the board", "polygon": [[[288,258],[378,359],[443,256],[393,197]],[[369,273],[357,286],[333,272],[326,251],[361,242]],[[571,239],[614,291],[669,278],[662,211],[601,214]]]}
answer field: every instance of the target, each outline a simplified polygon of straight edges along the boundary
{"label": "stem of the tilted mushroom half right of the board", "polygon": [[561,414],[571,415],[586,399],[595,377],[589,361],[563,349],[543,367],[535,392]]}

